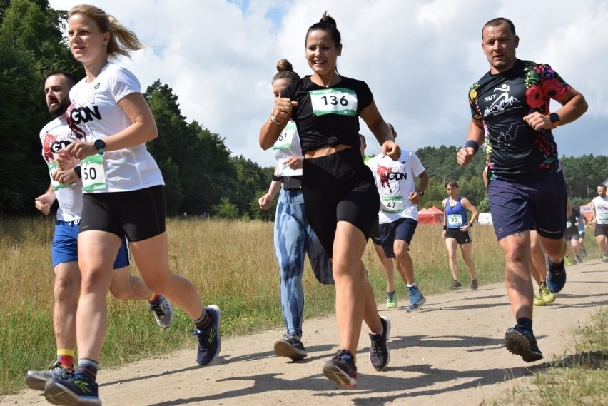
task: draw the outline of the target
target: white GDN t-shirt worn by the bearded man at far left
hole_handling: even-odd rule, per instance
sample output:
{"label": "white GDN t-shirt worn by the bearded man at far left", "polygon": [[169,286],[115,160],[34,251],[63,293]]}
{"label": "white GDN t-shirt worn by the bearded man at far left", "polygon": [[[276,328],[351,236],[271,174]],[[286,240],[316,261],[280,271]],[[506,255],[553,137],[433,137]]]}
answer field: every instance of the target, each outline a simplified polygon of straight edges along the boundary
{"label": "white GDN t-shirt worn by the bearded man at far left", "polygon": [[[70,130],[64,117],[55,118],[40,131],[42,158],[49,167],[49,177],[56,171],[54,153],[76,141],[76,134]],[[57,220],[79,220],[82,213],[82,181],[62,185],[51,177],[51,186],[59,203]]]}

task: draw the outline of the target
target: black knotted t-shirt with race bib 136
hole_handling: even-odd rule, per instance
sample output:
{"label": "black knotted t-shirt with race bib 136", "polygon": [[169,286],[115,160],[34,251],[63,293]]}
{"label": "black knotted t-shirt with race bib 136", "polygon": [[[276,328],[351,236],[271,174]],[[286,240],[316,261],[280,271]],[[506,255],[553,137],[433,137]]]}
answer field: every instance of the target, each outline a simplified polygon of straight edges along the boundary
{"label": "black knotted t-shirt with race bib 136", "polygon": [[345,78],[334,86],[318,86],[305,76],[281,93],[299,104],[292,111],[302,152],[344,144],[359,148],[359,113],[374,98],[364,81]]}

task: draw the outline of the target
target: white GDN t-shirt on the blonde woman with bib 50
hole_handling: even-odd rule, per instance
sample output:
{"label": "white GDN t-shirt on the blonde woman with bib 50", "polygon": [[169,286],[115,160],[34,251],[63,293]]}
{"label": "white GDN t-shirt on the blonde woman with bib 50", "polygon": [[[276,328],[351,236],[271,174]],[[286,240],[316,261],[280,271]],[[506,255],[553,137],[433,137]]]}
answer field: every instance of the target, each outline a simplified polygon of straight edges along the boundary
{"label": "white GDN t-shirt on the blonde woman with bib 50", "polygon": [[[118,107],[118,101],[131,93],[141,93],[139,81],[133,73],[108,63],[91,83],[83,78],[71,88],[71,106],[66,112],[72,130],[84,137],[85,141],[95,141],[113,136],[131,126],[131,120]],[[96,157],[98,158],[98,157]],[[105,172],[103,183],[94,190],[86,187],[86,165],[83,162],[83,182],[85,193],[136,191],[150,186],[163,185],[163,176],[146,145],[141,143],[130,148],[106,151],[102,168]],[[101,178],[101,176],[100,176]]]}

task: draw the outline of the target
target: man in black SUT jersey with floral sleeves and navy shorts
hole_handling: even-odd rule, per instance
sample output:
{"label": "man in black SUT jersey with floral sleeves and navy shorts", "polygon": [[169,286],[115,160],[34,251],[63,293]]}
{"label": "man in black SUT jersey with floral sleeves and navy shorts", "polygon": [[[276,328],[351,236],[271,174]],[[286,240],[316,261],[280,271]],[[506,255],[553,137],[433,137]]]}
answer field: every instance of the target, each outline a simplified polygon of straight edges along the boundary
{"label": "man in black SUT jersey with floral sleeves and navy shorts", "polygon": [[[505,345],[532,362],[542,353],[532,333],[530,229],[537,230],[549,256],[547,286],[559,292],[566,282],[567,193],[551,131],[582,116],[587,102],[551,66],[517,59],[519,42],[508,19],[492,19],[483,26],[482,50],[490,71],[470,88],[472,120],[457,163],[470,163],[485,143],[490,212],[505,254],[505,283],[517,320],[505,334]],[[550,99],[562,106],[551,112]]]}

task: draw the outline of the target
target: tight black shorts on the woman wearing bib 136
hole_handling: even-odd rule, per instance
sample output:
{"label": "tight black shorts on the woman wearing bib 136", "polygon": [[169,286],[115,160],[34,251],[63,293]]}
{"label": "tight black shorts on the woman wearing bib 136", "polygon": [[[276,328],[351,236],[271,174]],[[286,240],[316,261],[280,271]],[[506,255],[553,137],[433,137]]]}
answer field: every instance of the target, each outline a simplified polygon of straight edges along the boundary
{"label": "tight black shorts on the woman wearing bib 136", "polygon": [[355,225],[370,238],[378,222],[380,196],[358,148],[305,159],[302,193],[308,223],[330,258],[338,221]]}

